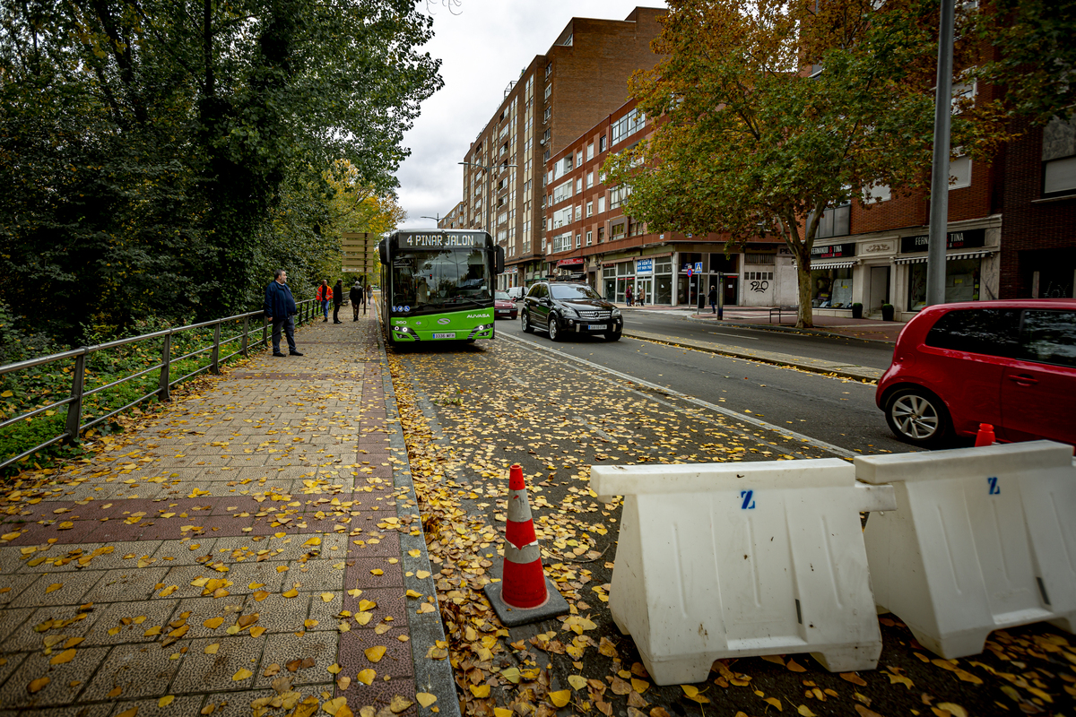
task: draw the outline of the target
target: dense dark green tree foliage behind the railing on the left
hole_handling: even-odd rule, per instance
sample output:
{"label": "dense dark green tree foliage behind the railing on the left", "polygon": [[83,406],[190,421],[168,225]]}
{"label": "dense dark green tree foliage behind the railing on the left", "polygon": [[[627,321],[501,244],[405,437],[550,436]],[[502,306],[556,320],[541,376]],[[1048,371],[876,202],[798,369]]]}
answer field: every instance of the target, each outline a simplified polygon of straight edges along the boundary
{"label": "dense dark green tree foliage behind the railing on the left", "polygon": [[0,298],[65,343],[297,298],[348,159],[379,191],[440,87],[401,0],[0,0]]}

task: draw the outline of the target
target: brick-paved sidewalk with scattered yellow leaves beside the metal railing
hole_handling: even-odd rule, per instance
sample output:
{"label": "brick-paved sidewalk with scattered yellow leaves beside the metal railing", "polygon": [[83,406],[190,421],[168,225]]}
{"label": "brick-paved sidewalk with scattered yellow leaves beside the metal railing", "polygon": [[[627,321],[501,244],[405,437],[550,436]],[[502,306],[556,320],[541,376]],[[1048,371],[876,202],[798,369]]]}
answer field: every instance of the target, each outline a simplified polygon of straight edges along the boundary
{"label": "brick-paved sidewalk with scattered yellow leaves beside the metal railing", "polygon": [[458,714],[377,324],[297,341],[0,499],[0,716]]}

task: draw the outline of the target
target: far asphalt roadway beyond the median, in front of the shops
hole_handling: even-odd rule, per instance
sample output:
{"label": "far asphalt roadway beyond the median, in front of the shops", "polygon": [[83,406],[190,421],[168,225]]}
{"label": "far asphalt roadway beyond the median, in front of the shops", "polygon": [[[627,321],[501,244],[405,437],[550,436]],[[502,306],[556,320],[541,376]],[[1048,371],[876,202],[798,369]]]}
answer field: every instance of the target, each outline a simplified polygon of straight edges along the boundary
{"label": "far asphalt roadway beyond the median, in front of the shops", "polygon": [[[780,352],[840,363],[856,363],[874,369],[888,369],[893,357],[893,347],[879,342],[722,326],[689,320],[672,312],[627,310],[624,312],[624,320],[629,329],[664,333],[672,338],[716,341],[744,348]],[[497,328],[500,328],[500,324]]]}

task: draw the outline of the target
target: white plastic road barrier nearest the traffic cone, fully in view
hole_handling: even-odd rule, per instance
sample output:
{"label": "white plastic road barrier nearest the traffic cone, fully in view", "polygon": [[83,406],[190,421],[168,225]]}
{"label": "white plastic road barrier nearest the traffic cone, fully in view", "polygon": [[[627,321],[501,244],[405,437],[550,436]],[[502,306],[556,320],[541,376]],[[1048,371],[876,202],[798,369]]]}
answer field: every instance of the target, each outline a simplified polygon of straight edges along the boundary
{"label": "white plastic road barrier nearest the traffic cone, fully in view", "polygon": [[609,608],[659,685],[703,682],[723,657],[877,665],[860,511],[893,510],[889,486],[835,458],[594,465],[591,486],[624,497]]}

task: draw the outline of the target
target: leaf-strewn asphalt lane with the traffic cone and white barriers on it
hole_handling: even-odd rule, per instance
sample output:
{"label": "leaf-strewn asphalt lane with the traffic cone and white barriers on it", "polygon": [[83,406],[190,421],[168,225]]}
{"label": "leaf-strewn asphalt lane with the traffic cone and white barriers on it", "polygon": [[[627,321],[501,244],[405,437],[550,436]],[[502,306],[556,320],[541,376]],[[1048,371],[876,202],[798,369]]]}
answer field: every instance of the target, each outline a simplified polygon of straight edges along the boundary
{"label": "leaf-strewn asphalt lane with the traffic cone and white barriers on it", "polygon": [[[995,631],[983,654],[942,660],[886,615],[873,672],[831,674],[808,655],[783,655],[718,661],[705,684],[653,685],[607,608],[620,508],[597,501],[590,465],[820,454],[507,341],[422,347],[390,364],[465,714],[1072,714],[1076,643],[1045,623]],[[547,575],[571,614],[506,630],[482,587],[499,575],[513,462]]]}

